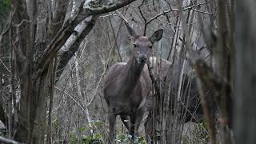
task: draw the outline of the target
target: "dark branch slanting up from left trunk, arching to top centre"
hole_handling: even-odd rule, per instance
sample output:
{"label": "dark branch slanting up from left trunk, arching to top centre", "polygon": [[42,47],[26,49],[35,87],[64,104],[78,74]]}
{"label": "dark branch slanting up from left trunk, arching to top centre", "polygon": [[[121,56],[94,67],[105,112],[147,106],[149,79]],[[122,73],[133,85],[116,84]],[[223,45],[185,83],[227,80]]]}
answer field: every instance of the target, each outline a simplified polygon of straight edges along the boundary
{"label": "dark branch slanting up from left trunk, arching to top centre", "polygon": [[70,38],[70,35],[76,33],[74,32],[74,27],[77,26],[78,23],[82,22],[82,20],[88,18],[90,15],[98,15],[118,10],[119,8],[126,6],[134,1],[135,0],[118,1],[114,2],[114,4],[110,4],[109,6],[101,6],[96,8],[92,8],[94,7],[92,4],[94,1],[86,1],[86,8],[83,9],[83,5],[80,6],[78,14],[76,14],[74,18],[70,18],[70,20],[65,22],[62,26],[62,29],[58,30],[58,33],[55,34],[52,42],[50,42],[50,44],[46,47],[46,50],[44,51],[44,54],[42,55],[36,70],[38,70],[39,74],[46,70],[48,63],[52,61],[54,56],[58,53],[58,50],[60,50],[66,40]]}

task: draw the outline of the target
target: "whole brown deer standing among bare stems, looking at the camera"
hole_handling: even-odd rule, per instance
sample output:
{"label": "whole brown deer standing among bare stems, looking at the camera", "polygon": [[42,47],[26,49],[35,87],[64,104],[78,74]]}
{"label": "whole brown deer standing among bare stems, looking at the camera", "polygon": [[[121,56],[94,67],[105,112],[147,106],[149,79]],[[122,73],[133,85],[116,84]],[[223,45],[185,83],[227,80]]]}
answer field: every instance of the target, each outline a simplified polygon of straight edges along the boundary
{"label": "whole brown deer standing among bare stems, looking at the camera", "polygon": [[[109,143],[114,142],[116,117],[119,115],[132,139],[138,136],[138,128],[150,98],[151,79],[146,62],[155,42],[162,38],[163,30],[150,37],[138,34],[125,22],[126,30],[134,42],[128,62],[117,62],[106,72],[103,94],[108,107]],[[129,121],[128,121],[129,120]]]}

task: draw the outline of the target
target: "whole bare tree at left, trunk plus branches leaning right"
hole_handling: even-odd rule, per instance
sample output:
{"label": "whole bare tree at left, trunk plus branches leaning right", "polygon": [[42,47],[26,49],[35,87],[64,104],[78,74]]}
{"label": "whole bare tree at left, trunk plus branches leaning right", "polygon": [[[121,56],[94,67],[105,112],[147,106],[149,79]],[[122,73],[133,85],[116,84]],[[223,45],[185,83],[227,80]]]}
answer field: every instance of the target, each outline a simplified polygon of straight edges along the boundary
{"label": "whole bare tree at left, trunk plus branches leaning right", "polygon": [[[14,53],[12,57],[18,76],[16,81],[21,91],[18,120],[14,121],[12,115],[7,117],[8,122],[11,122],[10,126],[15,126],[11,130],[12,138],[19,142],[44,142],[46,108],[50,96],[48,91],[53,86],[50,85],[50,79],[54,73],[54,59],[58,62],[57,76],[60,76],[82,39],[93,29],[97,15],[117,10],[131,2],[134,0],[116,1],[102,6],[98,5],[98,1],[84,1],[78,5],[74,16],[64,21],[70,3],[68,1],[54,1],[54,5],[45,0],[10,1],[8,30],[12,38],[11,47],[14,47],[11,53]],[[79,23],[84,27],[76,31],[74,28]],[[72,34],[78,34],[78,37],[71,39],[72,44],[59,53]],[[15,91],[12,90],[12,93]],[[5,113],[0,110],[1,114]]]}

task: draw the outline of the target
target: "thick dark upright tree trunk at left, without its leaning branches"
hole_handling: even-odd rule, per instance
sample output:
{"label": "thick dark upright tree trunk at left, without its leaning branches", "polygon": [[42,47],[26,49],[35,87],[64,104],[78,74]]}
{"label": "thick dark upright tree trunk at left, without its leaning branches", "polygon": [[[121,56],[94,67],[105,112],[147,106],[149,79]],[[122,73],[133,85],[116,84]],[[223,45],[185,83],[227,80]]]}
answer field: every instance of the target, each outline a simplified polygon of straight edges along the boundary
{"label": "thick dark upright tree trunk at left, without its leaning branches", "polygon": [[[14,24],[20,24],[16,35],[19,51],[16,51],[15,60],[21,81],[19,123],[14,138],[19,142],[44,143],[47,98],[48,91],[50,91],[50,74],[53,71],[52,62],[49,62],[46,69],[42,71],[37,71],[35,68],[38,66],[38,60],[42,57],[47,43],[50,42],[51,32],[58,31],[62,25],[51,26],[52,30],[49,30],[46,22],[48,14],[45,0],[28,2],[29,5],[26,5],[28,4],[26,1],[12,3],[13,8],[18,7],[17,12],[14,13]],[[54,20],[56,19],[63,21],[64,17],[62,19],[57,17]],[[24,20],[29,22],[24,22]],[[23,28],[25,30],[22,30]]]}

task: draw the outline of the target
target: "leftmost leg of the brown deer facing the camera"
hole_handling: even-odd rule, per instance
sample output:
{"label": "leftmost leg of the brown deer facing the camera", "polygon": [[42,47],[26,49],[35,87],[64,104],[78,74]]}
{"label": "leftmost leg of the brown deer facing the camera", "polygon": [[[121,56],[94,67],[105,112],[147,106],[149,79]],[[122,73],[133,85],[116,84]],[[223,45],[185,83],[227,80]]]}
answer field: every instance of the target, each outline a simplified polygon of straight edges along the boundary
{"label": "leftmost leg of the brown deer facing the camera", "polygon": [[116,114],[114,114],[113,110],[110,110],[109,107],[109,122],[110,122],[110,134],[109,134],[109,144],[114,143],[114,137],[115,137],[115,122],[116,122]]}

